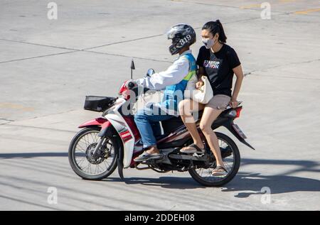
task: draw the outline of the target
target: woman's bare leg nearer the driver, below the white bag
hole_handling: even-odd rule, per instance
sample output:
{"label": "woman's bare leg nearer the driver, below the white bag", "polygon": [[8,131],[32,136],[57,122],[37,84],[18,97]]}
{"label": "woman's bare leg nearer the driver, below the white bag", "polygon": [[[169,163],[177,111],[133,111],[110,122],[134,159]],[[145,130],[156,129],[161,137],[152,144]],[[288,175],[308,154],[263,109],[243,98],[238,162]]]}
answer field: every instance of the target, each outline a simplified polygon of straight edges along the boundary
{"label": "woman's bare leg nearer the driver, below the white bag", "polygon": [[180,101],[178,108],[181,119],[193,138],[193,143],[195,143],[199,148],[204,148],[203,142],[201,141],[201,137],[198,133],[196,121],[192,116],[192,111],[199,111],[204,108],[203,104],[198,104],[198,102],[192,101],[191,99],[183,99]]}

